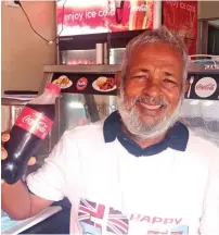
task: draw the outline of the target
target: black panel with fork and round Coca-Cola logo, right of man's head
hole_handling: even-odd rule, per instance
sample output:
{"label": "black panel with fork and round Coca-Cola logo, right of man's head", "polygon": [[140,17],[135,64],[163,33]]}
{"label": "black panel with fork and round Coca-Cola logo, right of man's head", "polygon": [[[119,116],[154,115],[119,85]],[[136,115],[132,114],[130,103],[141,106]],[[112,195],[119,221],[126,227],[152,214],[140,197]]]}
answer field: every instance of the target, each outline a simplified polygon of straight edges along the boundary
{"label": "black panel with fork and round Coca-Cola logo, right of man's head", "polygon": [[190,73],[188,99],[219,100],[219,73]]}

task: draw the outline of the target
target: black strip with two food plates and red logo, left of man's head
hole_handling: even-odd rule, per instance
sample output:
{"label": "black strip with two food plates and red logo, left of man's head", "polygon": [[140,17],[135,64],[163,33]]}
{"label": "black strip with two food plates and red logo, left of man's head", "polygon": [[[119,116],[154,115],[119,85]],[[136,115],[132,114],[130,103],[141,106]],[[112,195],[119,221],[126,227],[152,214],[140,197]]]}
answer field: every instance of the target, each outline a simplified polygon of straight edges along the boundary
{"label": "black strip with two food plates and red logo, left of man's head", "polygon": [[54,73],[52,83],[61,87],[61,92],[116,95],[116,79],[114,74],[74,74]]}

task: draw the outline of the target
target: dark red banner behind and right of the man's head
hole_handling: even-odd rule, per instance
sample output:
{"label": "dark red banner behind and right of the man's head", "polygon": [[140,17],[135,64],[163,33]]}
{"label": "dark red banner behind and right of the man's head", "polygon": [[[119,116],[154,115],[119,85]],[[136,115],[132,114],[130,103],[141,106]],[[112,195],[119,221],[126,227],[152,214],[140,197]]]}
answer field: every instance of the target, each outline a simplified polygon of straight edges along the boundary
{"label": "dark red banner behind and right of the man's head", "polygon": [[197,1],[163,1],[163,24],[179,33],[190,54],[196,53]]}

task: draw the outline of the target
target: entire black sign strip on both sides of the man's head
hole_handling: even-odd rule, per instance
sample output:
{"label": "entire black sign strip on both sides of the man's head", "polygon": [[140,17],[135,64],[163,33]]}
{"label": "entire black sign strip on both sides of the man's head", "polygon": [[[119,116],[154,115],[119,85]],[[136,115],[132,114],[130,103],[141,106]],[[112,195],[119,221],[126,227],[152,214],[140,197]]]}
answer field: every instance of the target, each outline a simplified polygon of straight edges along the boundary
{"label": "entire black sign strip on both sides of the man's head", "polygon": [[[63,94],[117,95],[114,74],[54,73],[52,83]],[[219,100],[219,73],[189,73],[188,83],[185,99]]]}

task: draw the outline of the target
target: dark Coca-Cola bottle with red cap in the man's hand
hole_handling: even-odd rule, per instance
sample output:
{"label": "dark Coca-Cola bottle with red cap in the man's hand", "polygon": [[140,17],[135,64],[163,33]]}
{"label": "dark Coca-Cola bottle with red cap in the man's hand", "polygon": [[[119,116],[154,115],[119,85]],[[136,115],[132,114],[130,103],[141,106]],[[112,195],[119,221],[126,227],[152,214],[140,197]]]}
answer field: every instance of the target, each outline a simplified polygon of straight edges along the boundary
{"label": "dark Coca-Cola bottle with red cap in the man's hand", "polygon": [[60,87],[48,84],[44,92],[27,103],[18,115],[4,145],[8,158],[1,161],[1,178],[8,184],[14,184],[23,176],[29,158],[50,132],[59,95]]}

